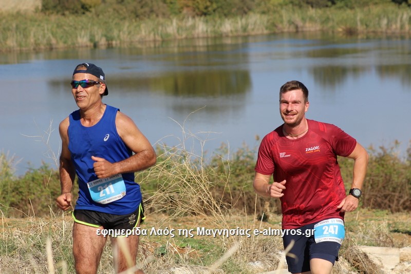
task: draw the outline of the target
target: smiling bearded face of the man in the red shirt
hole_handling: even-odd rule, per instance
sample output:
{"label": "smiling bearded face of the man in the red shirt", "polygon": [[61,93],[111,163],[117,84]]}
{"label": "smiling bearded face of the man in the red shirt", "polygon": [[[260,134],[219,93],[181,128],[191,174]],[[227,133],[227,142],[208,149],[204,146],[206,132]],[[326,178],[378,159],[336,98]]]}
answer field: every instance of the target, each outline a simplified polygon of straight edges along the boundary
{"label": "smiling bearded face of the man in the red shirt", "polygon": [[305,101],[301,89],[293,89],[282,93],[279,98],[279,113],[284,123],[289,127],[300,125],[305,119],[309,102]]}

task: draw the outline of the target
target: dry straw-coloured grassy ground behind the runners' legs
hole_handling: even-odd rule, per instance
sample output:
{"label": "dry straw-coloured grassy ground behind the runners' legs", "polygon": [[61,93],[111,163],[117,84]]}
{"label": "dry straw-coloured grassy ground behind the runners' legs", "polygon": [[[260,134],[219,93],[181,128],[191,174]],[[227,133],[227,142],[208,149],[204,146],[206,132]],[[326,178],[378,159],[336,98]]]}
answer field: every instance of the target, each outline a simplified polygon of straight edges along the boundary
{"label": "dry straw-coloured grassy ground behind the runners' legs", "polygon": [[[28,273],[30,265],[27,266],[27,254],[33,254],[37,263],[31,261],[34,267],[36,264],[44,264],[43,270],[38,270],[38,273],[49,273],[47,271],[47,256],[44,251],[46,248],[45,240],[47,233],[57,231],[61,233],[66,231],[63,236],[56,236],[52,240],[52,252],[54,262],[59,268],[61,258],[58,246],[66,245],[66,259],[70,260],[70,233],[72,220],[66,215],[62,217],[53,218],[26,218],[26,219],[2,219],[2,236],[0,237],[0,272],[11,273],[10,265],[13,267],[26,264],[26,268],[18,269],[13,273]],[[197,227],[209,228],[215,230],[218,228],[229,229],[259,229],[266,228],[281,228],[281,216],[271,214],[268,222],[260,222],[255,220],[254,216],[234,213],[227,215],[224,218],[207,217],[207,216],[188,216],[182,218],[170,218],[163,214],[149,214],[145,223],[142,225],[143,229],[150,232],[153,228],[165,231],[175,229],[175,236],[171,235],[148,235],[141,237],[139,262],[144,267],[147,273],[171,273],[170,269],[175,267],[190,266],[190,267],[209,267],[216,263],[222,255],[235,244],[239,244],[230,259],[220,266],[225,273],[255,273],[255,271],[244,270],[250,262],[265,263],[264,271],[271,271],[282,264],[282,241],[280,236],[254,236],[247,237],[246,235],[224,236],[197,235]],[[63,228],[63,229],[62,229]],[[178,229],[193,229],[193,237],[186,237],[178,235]],[[42,240],[33,240],[39,238],[42,233],[44,236]],[[25,237],[30,239],[24,239]],[[7,256],[4,252],[5,245],[15,244],[13,239],[23,238],[22,243],[27,244],[26,247],[16,249]],[[39,247],[40,243],[40,247]],[[411,247],[411,218],[409,212],[405,213],[389,213],[386,211],[371,211],[360,209],[354,213],[346,215],[346,241],[344,242],[340,255],[352,254],[358,245],[367,246],[383,246],[383,247]],[[38,251],[33,250],[38,248]],[[345,249],[344,249],[345,248]],[[101,273],[109,273],[113,269],[111,265],[110,247],[107,248],[103,254],[102,265],[100,266]],[[37,253],[39,254],[37,254]],[[41,258],[41,254],[44,257]],[[7,257],[7,258],[6,258]],[[31,257],[29,257],[31,258]],[[68,259],[67,259],[68,258]],[[344,257],[343,257],[344,258]],[[349,260],[358,260],[357,258],[348,258]],[[360,258],[361,259],[361,258]],[[25,263],[26,260],[26,263]],[[348,260],[348,261],[349,261]],[[364,264],[359,266],[358,262],[354,262],[357,269],[369,268],[369,265]],[[70,263],[68,263],[70,264]],[[352,267],[348,264],[348,267]],[[1,270],[6,271],[1,271]],[[9,269],[9,270],[8,270]],[[243,270],[239,270],[243,269]],[[15,270],[15,269],[14,269]],[[33,269],[31,269],[33,270]],[[350,269],[351,271],[353,268]],[[28,271],[28,272],[27,272]],[[201,273],[198,272],[197,274]],[[344,270],[345,271],[345,270]],[[344,271],[334,270],[334,273],[344,273]],[[361,273],[357,270],[352,273]]]}

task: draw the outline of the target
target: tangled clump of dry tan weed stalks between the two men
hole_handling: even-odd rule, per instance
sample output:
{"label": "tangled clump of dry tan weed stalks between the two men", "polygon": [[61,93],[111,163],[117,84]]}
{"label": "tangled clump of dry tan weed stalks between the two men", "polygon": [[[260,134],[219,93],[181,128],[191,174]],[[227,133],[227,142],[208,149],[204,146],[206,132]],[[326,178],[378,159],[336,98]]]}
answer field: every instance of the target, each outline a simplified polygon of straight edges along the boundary
{"label": "tangled clump of dry tan weed stalks between the two men", "polygon": [[[225,174],[218,174],[207,165],[204,144],[208,139],[204,140],[200,135],[206,134],[208,137],[212,132],[193,134],[186,131],[185,122],[189,116],[183,124],[176,122],[182,130],[180,144],[173,147],[159,144],[157,164],[142,179],[159,182],[157,191],[144,201],[147,211],[166,212],[170,218],[195,215],[209,219],[212,216],[220,227],[227,227],[225,215],[230,205],[223,202],[222,194],[215,194],[215,189],[224,185],[225,191],[230,192],[229,170]],[[190,148],[189,141],[193,142]],[[196,146],[198,153],[195,152]]]}

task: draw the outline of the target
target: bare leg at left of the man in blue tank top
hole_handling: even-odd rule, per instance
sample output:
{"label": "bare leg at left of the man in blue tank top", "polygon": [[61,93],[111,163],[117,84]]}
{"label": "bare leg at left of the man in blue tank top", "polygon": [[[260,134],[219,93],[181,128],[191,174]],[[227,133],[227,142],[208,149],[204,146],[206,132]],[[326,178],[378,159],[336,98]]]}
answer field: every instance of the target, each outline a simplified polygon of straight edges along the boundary
{"label": "bare leg at left of the man in blue tank top", "polygon": [[101,254],[107,238],[97,235],[97,229],[74,222],[73,255],[78,274],[95,274],[100,263]]}

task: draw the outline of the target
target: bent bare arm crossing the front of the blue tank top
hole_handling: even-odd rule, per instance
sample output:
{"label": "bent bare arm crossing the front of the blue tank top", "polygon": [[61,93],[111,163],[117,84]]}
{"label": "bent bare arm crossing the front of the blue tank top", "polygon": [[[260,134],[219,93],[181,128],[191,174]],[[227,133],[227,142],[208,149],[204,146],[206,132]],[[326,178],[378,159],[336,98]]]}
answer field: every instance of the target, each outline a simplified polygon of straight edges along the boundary
{"label": "bent bare arm crossing the front of the blue tank top", "polygon": [[156,153],[140,132],[136,124],[125,114],[118,112],[116,115],[116,127],[120,137],[135,154],[116,163],[110,163],[104,158],[91,157],[95,160],[94,171],[99,178],[106,178],[125,172],[136,172],[153,166],[156,163]]}

